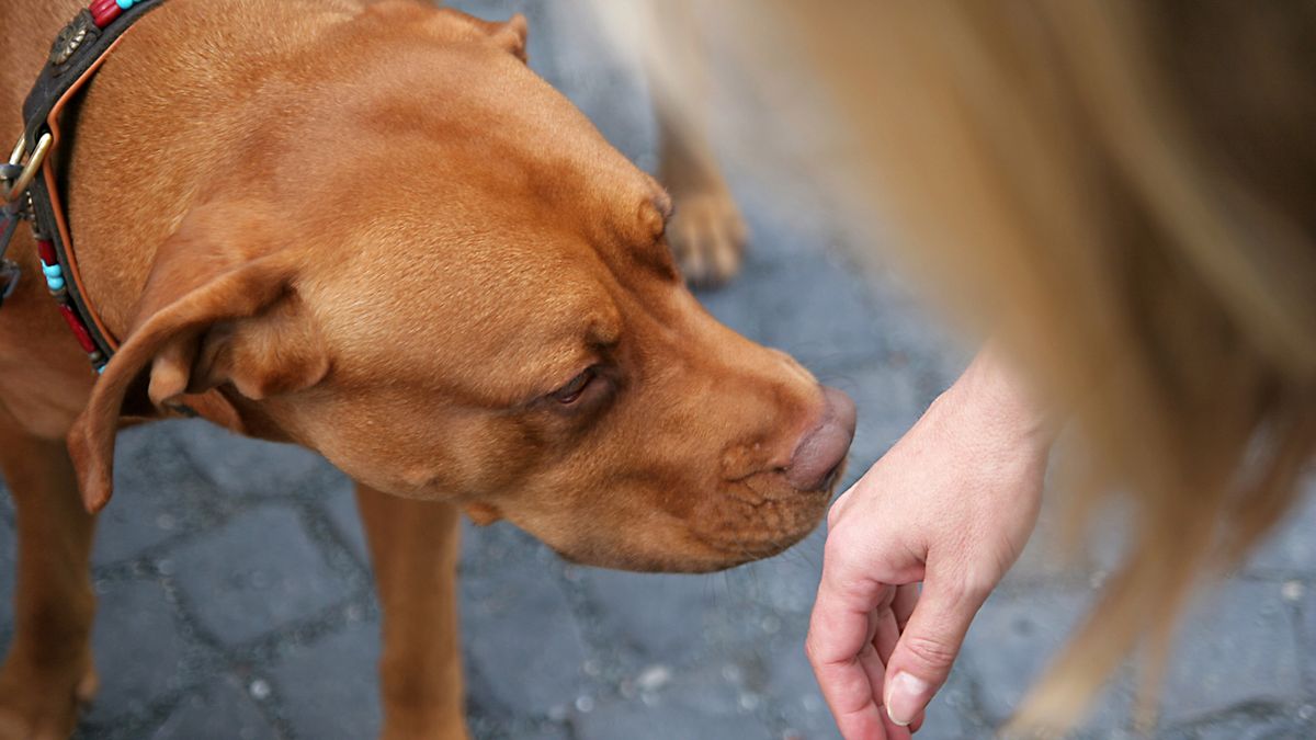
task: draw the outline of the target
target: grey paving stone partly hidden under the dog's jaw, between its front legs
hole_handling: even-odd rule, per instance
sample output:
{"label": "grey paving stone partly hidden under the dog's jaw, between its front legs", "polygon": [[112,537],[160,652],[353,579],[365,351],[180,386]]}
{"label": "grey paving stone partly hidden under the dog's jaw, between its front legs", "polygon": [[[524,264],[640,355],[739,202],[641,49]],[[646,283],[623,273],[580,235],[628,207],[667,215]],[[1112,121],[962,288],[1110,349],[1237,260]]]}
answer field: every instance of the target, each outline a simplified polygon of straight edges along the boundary
{"label": "grey paving stone partly hidden under the dog's jaw, between its front legs", "polygon": [[251,440],[201,420],[176,424],[172,436],[183,454],[212,486],[230,496],[315,498],[342,477],[305,448]]}

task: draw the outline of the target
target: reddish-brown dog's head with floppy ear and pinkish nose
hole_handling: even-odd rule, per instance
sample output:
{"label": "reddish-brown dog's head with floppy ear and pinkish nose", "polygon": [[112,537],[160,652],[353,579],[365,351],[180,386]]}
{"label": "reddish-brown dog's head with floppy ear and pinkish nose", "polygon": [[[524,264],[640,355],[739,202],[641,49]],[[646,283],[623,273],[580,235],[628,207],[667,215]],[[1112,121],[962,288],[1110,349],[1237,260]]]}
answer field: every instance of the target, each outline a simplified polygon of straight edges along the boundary
{"label": "reddish-brown dog's head with floppy ear and pinkish nose", "polygon": [[263,183],[161,248],[70,437],[88,506],[149,398],[590,564],[709,570],[808,533],[853,404],[700,308],[667,196],[524,66],[524,21],[355,24],[354,66],[299,97],[317,115],[266,132]]}

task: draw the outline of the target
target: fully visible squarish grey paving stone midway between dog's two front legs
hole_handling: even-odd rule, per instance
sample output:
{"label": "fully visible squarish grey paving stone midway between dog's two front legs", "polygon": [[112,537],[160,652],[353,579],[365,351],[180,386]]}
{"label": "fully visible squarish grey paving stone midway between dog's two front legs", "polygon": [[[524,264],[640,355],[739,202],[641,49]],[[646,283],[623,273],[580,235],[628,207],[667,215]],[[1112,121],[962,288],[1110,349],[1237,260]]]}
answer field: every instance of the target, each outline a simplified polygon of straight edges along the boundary
{"label": "fully visible squarish grey paving stone midway between dog's two front legs", "polygon": [[349,595],[296,512],[265,506],[180,546],[171,557],[195,618],[228,645],[315,616]]}

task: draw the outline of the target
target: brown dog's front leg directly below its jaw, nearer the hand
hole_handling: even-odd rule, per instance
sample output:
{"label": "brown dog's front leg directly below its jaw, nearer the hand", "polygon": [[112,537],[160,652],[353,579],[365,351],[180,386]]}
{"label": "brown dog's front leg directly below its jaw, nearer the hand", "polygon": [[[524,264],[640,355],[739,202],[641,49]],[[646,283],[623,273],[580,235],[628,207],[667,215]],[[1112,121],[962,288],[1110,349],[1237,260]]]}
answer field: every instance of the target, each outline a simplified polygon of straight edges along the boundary
{"label": "brown dog's front leg directly below its jaw, nearer the hand", "polygon": [[457,633],[458,511],[357,485],[384,610],[384,728],[397,740],[466,737]]}

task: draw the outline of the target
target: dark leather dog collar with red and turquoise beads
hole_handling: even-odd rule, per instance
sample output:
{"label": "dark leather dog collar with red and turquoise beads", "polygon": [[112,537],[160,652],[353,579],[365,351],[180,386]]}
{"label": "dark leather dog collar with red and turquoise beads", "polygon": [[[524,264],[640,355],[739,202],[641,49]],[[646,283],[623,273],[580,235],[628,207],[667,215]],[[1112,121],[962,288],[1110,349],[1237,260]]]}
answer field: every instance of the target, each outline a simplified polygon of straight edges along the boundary
{"label": "dark leather dog collar with red and turquoise beads", "polygon": [[55,157],[62,138],[59,124],[66,107],[95,76],[122,36],[162,1],[93,0],[59,32],[22,105],[24,132],[8,165],[0,165],[0,305],[18,280],[18,266],[4,259],[5,250],[18,223],[30,221],[46,287],[97,373],[118,349],[118,340],[87,302],[78,273],[59,191],[61,171]]}

